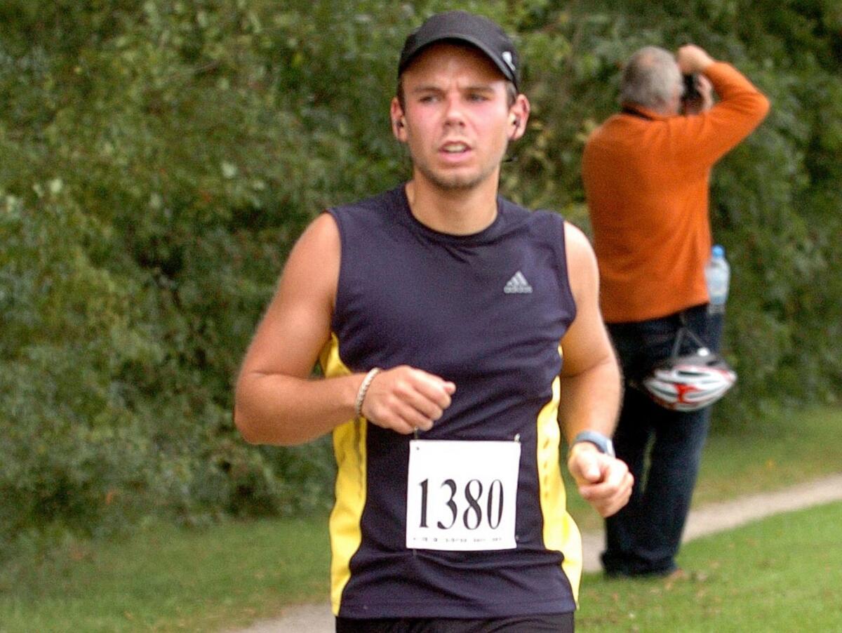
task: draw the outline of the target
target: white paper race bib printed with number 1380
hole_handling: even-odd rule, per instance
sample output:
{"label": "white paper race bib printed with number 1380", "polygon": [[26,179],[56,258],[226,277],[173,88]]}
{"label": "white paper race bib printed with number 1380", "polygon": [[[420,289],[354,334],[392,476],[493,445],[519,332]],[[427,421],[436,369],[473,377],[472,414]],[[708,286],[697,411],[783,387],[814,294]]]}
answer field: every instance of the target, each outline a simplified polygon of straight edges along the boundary
{"label": "white paper race bib printed with number 1380", "polygon": [[520,442],[413,439],[407,547],[512,550]]}

